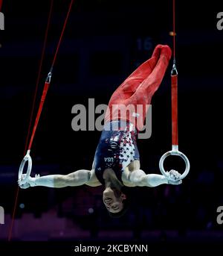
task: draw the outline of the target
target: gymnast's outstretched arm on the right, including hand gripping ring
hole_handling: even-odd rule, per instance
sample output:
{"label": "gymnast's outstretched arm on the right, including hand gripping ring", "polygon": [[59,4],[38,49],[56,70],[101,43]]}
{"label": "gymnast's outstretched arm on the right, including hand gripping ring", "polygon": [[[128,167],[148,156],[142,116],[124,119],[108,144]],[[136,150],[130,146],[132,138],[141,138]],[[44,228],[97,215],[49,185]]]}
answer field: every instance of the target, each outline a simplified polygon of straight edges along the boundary
{"label": "gymnast's outstretched arm on the right, including hand gripping ring", "polygon": [[[178,178],[178,175],[180,174],[176,171],[173,171],[173,172],[175,173],[175,178]],[[164,175],[146,174],[141,169],[137,169],[133,172],[129,172],[129,181],[135,186],[139,186],[139,187],[157,187],[161,184],[178,185],[182,183],[182,181],[172,181],[167,177],[165,177]]]}

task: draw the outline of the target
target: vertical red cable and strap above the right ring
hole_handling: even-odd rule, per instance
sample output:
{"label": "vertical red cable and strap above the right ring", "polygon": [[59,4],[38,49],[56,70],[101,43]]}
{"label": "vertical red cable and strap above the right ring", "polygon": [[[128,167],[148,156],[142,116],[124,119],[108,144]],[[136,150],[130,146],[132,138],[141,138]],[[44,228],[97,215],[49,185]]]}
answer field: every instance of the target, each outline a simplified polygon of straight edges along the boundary
{"label": "vertical red cable and strap above the right ring", "polygon": [[173,67],[171,74],[172,145],[178,146],[178,73],[175,67],[175,0],[172,0]]}

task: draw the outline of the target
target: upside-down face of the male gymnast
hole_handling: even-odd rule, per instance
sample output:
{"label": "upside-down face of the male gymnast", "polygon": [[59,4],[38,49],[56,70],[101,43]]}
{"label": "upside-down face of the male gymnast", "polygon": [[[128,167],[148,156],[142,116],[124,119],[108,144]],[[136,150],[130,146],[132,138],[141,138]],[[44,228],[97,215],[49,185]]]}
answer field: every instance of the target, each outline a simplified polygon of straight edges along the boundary
{"label": "upside-down face of the male gymnast", "polygon": [[123,210],[123,200],[126,195],[117,190],[112,190],[111,187],[106,187],[103,191],[103,203],[107,210],[111,213],[118,213]]}

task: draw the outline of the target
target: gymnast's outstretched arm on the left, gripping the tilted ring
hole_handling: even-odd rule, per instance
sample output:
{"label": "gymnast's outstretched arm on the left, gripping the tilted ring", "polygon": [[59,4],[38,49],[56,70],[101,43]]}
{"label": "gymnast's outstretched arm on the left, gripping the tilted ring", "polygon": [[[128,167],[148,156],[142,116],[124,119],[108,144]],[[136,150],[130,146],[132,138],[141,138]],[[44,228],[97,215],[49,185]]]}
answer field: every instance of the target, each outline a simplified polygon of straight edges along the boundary
{"label": "gymnast's outstretched arm on the left, gripping the tilted ring", "polygon": [[75,187],[86,184],[91,187],[96,187],[100,185],[100,182],[95,179],[94,171],[80,169],[76,172],[71,172],[68,175],[46,175],[39,177],[28,178],[28,181],[25,184],[22,184],[22,181],[18,181],[19,187],[28,188],[28,187]]}

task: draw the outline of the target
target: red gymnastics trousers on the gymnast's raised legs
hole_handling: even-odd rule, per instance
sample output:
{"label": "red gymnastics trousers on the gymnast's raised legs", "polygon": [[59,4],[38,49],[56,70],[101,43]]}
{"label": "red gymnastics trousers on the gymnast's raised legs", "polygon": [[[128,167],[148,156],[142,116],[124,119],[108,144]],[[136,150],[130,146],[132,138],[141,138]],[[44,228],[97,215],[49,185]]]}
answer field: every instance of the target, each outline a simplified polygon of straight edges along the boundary
{"label": "red gymnastics trousers on the gymnast's raised legs", "polygon": [[129,75],[111,96],[105,123],[125,120],[131,122],[138,131],[143,130],[146,112],[153,94],[161,85],[170,58],[169,46],[156,46],[152,57]]}

